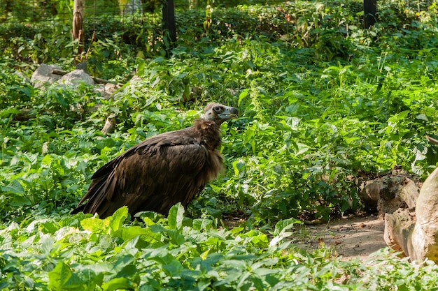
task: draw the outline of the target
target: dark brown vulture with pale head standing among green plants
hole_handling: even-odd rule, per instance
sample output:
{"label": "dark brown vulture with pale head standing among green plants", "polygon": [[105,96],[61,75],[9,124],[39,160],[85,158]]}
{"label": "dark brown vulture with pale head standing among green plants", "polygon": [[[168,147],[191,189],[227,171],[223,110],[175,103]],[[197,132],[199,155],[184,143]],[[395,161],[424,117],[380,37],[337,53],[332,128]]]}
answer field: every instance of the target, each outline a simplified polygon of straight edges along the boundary
{"label": "dark brown vulture with pale head standing among green plants", "polygon": [[92,175],[87,194],[71,214],[83,211],[106,218],[126,205],[132,217],[140,211],[167,215],[178,202],[185,207],[222,170],[220,124],[237,117],[236,108],[210,103],[204,119],[193,126],[127,149]]}

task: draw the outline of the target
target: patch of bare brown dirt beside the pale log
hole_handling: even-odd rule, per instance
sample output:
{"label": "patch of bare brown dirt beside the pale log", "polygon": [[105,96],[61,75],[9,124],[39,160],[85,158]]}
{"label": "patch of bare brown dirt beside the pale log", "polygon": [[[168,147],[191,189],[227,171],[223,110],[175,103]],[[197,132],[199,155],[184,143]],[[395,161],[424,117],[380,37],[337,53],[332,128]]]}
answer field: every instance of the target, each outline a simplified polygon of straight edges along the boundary
{"label": "patch of bare brown dirt beside the pale log", "polygon": [[330,221],[320,225],[304,225],[304,239],[299,246],[311,250],[325,244],[333,248],[341,260],[360,258],[365,261],[369,255],[386,247],[383,240],[383,219],[378,216],[353,216]]}

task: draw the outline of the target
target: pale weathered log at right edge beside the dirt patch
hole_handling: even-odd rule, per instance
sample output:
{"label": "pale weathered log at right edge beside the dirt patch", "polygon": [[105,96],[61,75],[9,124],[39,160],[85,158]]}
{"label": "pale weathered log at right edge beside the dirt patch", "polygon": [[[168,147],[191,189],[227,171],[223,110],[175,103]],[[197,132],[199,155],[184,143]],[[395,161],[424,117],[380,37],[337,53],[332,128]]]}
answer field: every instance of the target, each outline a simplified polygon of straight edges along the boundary
{"label": "pale weathered log at right edge beside the dirt patch", "polygon": [[359,195],[384,216],[384,239],[390,248],[411,260],[438,263],[438,168],[423,185],[394,172],[362,182]]}

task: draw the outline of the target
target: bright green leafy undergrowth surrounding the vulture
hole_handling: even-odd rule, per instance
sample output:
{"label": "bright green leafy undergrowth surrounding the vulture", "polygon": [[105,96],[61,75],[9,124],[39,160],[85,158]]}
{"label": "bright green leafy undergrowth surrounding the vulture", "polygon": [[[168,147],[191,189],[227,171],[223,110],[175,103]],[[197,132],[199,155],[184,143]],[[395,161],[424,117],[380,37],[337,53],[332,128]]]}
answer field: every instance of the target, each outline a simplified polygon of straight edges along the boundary
{"label": "bright green leafy undergrowth surrounding the vulture", "polygon": [[[205,11],[181,11],[173,47],[153,24],[141,37],[108,25],[118,33],[88,57],[92,74],[125,84],[109,100],[87,86],[36,89],[15,73],[41,61],[69,69],[63,27],[57,41],[32,27],[32,41],[2,42],[1,288],[432,290],[431,262],[386,250],[342,262],[294,242],[303,221],[360,209],[361,174],[401,165],[424,179],[435,169],[425,135],[437,137],[437,7],[379,3],[369,30],[353,1],[215,8],[208,31]],[[141,221],[127,209],[69,214],[101,165],[190,126],[210,101],[241,117],[222,126],[227,170],[188,209]],[[108,136],[106,117],[118,121]],[[227,215],[243,223],[229,227]]]}

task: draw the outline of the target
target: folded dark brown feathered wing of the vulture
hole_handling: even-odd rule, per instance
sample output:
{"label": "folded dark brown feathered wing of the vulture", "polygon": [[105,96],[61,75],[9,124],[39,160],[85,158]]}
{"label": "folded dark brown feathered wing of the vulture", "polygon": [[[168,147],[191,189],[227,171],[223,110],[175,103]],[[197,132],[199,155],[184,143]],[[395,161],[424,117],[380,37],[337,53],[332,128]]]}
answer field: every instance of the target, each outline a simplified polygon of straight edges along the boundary
{"label": "folded dark brown feathered wing of the vulture", "polygon": [[196,178],[208,155],[202,144],[188,136],[162,134],[145,140],[92,176],[89,191],[81,200],[89,199],[84,211],[106,217],[127,205],[132,214],[143,210],[166,212],[185,199],[181,195],[194,196],[203,188]]}

